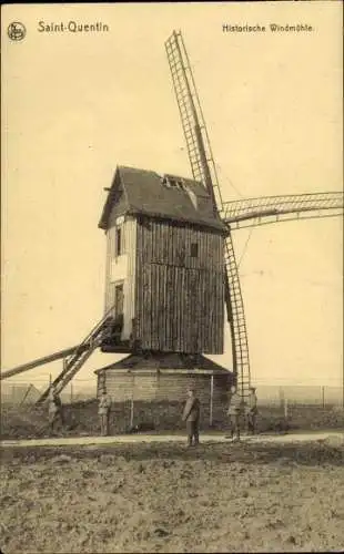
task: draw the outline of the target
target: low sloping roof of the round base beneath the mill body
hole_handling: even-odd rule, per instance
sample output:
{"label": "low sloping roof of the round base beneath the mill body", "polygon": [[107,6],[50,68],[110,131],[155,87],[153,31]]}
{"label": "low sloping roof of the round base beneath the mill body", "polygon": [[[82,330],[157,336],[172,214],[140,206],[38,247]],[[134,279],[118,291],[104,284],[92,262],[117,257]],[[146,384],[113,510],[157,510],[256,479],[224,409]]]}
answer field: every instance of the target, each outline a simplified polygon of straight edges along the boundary
{"label": "low sloping roof of the round base beneath the mill body", "polygon": [[94,373],[107,370],[206,370],[214,371],[216,373],[231,373],[227,369],[219,366],[214,361],[205,358],[202,355],[183,355],[178,352],[171,353],[150,353],[146,356],[142,355],[130,355],[120,361],[110,363],[103,368],[97,369]]}

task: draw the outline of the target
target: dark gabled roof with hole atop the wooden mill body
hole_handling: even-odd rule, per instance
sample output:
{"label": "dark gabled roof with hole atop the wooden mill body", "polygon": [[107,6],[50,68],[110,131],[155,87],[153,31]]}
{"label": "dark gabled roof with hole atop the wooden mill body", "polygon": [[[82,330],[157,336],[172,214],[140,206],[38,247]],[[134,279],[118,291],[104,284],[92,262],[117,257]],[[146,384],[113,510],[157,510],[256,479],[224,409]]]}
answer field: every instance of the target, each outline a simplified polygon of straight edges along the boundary
{"label": "dark gabled roof with hole atop the wooden mill body", "polygon": [[225,232],[224,224],[213,213],[211,197],[202,183],[173,176],[182,186],[169,187],[162,177],[153,171],[118,166],[99,227],[109,228],[112,208],[121,196],[118,215],[142,214]]}

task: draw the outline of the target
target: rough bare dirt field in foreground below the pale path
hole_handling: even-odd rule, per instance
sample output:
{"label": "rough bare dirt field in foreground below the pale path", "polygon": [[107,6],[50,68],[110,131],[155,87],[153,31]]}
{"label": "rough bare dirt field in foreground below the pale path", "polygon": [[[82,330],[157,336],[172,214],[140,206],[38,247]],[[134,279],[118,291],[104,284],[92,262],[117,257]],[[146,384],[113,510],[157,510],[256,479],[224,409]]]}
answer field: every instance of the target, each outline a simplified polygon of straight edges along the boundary
{"label": "rough bare dirt field in foreground below the pale path", "polygon": [[1,473],[4,554],[344,546],[335,440],[10,448]]}

